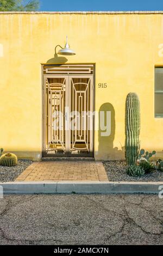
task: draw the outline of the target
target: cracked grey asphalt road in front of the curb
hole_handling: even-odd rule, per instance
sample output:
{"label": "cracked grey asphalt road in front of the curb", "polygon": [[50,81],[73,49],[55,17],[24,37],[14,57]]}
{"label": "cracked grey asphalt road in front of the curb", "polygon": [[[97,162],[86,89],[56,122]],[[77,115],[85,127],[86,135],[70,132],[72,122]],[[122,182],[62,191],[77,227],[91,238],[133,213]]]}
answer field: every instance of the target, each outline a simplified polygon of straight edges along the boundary
{"label": "cracked grey asphalt road in front of the curb", "polygon": [[1,245],[162,245],[154,195],[26,195],[0,199]]}

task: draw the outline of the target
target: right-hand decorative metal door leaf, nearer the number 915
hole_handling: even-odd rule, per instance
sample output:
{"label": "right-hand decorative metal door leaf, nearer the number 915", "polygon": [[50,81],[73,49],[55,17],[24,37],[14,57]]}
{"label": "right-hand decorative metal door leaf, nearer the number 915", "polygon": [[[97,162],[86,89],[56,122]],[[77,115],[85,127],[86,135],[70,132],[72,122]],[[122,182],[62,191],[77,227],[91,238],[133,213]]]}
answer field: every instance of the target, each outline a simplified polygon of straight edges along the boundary
{"label": "right-hand decorative metal door leaf, nearer the number 915", "polygon": [[68,77],[70,107],[69,155],[92,155],[93,151],[93,77]]}

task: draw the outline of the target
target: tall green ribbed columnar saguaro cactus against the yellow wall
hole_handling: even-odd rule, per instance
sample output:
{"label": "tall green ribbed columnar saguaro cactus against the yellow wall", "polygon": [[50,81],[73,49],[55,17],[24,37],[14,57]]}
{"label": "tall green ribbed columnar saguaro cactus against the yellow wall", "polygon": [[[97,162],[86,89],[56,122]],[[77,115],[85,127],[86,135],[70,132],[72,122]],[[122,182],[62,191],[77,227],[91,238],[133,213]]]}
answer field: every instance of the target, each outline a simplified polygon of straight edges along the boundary
{"label": "tall green ribbed columnar saguaro cactus against the yellow wall", "polygon": [[126,99],[126,142],[125,154],[128,165],[135,164],[140,148],[140,103],[136,93]]}

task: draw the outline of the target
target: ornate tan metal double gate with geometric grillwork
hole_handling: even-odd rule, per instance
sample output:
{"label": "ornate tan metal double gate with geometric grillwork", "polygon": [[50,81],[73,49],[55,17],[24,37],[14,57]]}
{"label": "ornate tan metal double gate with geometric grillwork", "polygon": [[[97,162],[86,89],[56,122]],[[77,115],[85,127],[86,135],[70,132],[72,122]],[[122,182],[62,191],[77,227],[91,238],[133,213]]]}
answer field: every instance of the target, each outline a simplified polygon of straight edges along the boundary
{"label": "ornate tan metal double gate with geometric grillwork", "polygon": [[43,66],[43,156],[93,156],[93,65]]}

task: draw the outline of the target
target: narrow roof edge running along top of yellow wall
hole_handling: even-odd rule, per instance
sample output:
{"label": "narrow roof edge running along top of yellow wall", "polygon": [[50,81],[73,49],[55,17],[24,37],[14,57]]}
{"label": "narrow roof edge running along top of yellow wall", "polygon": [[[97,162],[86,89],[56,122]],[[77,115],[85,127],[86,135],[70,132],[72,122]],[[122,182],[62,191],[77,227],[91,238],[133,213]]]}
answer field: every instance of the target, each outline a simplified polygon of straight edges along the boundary
{"label": "narrow roof edge running along top of yellow wall", "polygon": [[0,14],[163,14],[162,11],[0,11]]}

